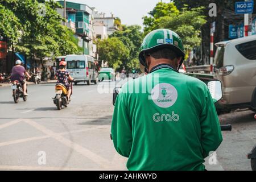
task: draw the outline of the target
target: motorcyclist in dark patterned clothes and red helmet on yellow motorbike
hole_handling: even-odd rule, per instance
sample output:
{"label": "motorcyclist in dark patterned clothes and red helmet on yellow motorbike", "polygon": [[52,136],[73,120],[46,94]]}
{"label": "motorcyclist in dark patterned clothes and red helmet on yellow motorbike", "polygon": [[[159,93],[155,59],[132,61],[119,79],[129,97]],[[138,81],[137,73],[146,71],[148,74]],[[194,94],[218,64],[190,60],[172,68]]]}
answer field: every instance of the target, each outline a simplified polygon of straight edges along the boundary
{"label": "motorcyclist in dark patterned clothes and red helmet on yellow motorbike", "polygon": [[60,69],[57,70],[55,73],[55,80],[57,79],[57,84],[58,83],[63,84],[67,88],[67,90],[68,90],[67,98],[68,98],[68,102],[69,102],[70,96],[72,93],[72,83],[69,81],[73,81],[74,78],[72,78],[71,75],[69,74],[69,72],[65,69],[66,65],[67,65],[67,62],[60,61],[60,63],[59,63]]}

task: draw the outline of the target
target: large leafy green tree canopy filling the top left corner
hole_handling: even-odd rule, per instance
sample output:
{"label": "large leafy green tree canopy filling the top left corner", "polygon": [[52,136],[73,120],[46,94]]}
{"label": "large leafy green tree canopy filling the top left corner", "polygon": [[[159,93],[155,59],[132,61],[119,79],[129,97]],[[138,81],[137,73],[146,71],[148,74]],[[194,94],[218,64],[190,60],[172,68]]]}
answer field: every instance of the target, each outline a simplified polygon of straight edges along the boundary
{"label": "large leafy green tree canopy filling the top left corner", "polygon": [[0,3],[0,35],[14,43],[15,51],[39,58],[81,53],[73,32],[60,24],[64,19],[56,11],[61,7],[59,3],[46,1],[45,16],[39,14],[38,1],[0,0]]}

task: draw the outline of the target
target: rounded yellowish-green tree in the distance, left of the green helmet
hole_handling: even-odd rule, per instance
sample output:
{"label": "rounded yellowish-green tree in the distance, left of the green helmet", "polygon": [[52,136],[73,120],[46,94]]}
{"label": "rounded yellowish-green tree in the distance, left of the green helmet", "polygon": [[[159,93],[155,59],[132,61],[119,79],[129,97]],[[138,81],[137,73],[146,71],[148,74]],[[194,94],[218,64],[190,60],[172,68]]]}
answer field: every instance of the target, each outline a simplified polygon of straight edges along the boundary
{"label": "rounded yellowish-green tree in the distance, left of the green helmet", "polygon": [[110,67],[114,69],[122,65],[124,57],[129,55],[129,49],[118,38],[108,38],[100,40],[98,43],[99,57],[101,60],[108,61]]}

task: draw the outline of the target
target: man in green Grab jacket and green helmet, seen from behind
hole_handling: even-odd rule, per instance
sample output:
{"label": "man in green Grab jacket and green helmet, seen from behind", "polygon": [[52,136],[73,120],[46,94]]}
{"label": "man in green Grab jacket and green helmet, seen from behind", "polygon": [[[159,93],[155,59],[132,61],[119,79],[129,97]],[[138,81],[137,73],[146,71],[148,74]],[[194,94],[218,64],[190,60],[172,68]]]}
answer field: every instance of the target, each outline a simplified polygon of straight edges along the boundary
{"label": "man in green Grab jacket and green helmet, seen from behind", "polygon": [[204,158],[222,142],[207,85],[178,72],[184,48],[174,31],[144,38],[139,61],[148,74],[122,86],[112,138],[129,170],[204,170]]}

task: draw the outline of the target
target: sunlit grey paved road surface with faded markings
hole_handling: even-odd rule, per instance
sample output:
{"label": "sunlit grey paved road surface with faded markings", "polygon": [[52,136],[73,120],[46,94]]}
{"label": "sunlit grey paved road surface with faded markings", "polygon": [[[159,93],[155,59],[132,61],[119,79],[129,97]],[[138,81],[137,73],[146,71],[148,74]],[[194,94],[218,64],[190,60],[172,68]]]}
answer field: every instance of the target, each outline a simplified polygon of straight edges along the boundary
{"label": "sunlit grey paved road surface with faded markings", "polygon": [[[71,104],[60,111],[51,100],[54,84],[29,85],[28,101],[18,104],[9,87],[0,88],[0,170],[126,170],[126,158],[115,152],[109,137],[113,106],[108,92],[115,82],[109,83],[74,86]],[[250,170],[246,154],[256,144],[253,115],[219,116],[221,123],[233,124],[233,131],[223,132],[218,163],[209,165],[207,159],[207,169]]]}

